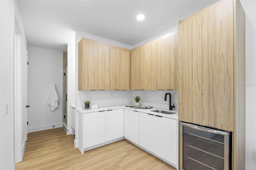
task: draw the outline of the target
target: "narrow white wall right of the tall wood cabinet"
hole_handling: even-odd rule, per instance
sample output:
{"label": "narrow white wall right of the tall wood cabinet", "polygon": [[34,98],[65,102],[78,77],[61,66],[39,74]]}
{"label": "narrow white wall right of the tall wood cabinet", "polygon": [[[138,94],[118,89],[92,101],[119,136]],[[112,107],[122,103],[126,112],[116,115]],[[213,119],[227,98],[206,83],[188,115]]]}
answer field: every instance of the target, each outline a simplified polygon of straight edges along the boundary
{"label": "narrow white wall right of the tall wood cabinet", "polygon": [[246,170],[256,168],[256,2],[246,12]]}

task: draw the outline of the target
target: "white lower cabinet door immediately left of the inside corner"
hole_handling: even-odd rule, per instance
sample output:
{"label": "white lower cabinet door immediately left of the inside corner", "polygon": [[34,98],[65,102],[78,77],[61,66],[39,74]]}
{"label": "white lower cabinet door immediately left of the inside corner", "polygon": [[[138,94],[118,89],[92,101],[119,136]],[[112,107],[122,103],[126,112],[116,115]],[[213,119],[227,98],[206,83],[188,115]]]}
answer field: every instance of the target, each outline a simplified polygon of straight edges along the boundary
{"label": "white lower cabinet door immediately left of the inside corner", "polygon": [[106,111],[106,142],[124,136],[123,109]]}

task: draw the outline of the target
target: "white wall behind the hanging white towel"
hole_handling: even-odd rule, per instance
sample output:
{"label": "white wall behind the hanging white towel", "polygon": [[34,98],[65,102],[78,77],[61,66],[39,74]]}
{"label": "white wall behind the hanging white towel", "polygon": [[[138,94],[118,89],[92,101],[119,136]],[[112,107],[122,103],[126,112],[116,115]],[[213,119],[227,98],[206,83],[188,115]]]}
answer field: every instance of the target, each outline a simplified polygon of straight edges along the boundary
{"label": "white wall behind the hanging white towel", "polygon": [[[28,46],[29,132],[62,127],[63,52]],[[48,95],[56,84],[58,107],[50,111]]]}

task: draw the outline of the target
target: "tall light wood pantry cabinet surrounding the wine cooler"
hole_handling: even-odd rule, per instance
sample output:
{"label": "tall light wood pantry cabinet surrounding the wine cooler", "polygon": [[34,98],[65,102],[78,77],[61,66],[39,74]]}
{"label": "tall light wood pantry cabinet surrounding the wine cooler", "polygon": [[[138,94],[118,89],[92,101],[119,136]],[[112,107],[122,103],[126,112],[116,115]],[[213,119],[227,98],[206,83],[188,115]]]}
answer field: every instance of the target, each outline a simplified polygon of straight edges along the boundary
{"label": "tall light wood pantry cabinet surrounding the wine cooler", "polygon": [[245,168],[245,14],[221,0],[179,23],[179,121],[232,133],[232,169]]}

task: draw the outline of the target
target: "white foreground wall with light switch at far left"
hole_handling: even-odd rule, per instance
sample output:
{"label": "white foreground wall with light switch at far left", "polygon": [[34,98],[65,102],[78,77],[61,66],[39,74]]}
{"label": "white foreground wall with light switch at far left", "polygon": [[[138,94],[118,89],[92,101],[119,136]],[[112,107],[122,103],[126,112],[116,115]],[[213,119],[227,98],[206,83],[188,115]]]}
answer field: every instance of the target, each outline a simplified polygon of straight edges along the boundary
{"label": "white foreground wall with light switch at far left", "polygon": [[14,169],[14,2],[0,4],[0,169]]}

